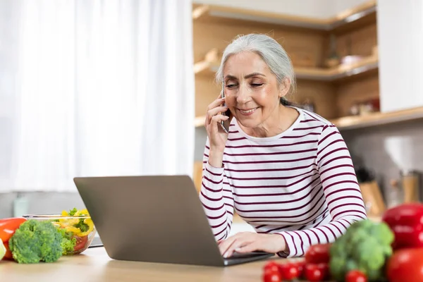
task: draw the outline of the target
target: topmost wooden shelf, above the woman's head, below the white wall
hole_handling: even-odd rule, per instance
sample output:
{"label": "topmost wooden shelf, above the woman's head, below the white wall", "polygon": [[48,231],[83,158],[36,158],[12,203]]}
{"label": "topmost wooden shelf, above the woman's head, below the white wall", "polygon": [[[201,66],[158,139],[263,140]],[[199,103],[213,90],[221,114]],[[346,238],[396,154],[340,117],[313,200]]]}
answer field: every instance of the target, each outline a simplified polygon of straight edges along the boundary
{"label": "topmost wooden shelf, above the woman's head, below the white wall", "polygon": [[376,20],[376,0],[367,1],[360,6],[350,8],[333,18],[308,18],[230,6],[194,5],[193,7],[193,20],[206,22],[216,22],[224,19],[247,20],[326,31],[334,31],[347,25],[357,25],[361,21],[368,23],[369,17],[371,17],[372,21]]}

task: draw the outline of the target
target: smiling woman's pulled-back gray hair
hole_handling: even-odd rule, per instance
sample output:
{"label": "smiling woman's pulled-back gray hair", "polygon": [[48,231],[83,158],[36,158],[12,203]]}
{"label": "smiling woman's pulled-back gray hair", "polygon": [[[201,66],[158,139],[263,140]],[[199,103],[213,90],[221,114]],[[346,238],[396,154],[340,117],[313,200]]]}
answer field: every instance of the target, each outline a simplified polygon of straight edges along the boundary
{"label": "smiling woman's pulled-back gray hair", "polygon": [[288,78],[290,80],[290,92],[295,90],[294,68],[285,49],[275,39],[261,34],[238,35],[233,39],[233,42],[223,51],[221,65],[216,72],[217,82],[223,81],[223,67],[228,58],[242,51],[255,52],[267,64],[271,73],[276,75],[279,84],[282,83],[284,78]]}

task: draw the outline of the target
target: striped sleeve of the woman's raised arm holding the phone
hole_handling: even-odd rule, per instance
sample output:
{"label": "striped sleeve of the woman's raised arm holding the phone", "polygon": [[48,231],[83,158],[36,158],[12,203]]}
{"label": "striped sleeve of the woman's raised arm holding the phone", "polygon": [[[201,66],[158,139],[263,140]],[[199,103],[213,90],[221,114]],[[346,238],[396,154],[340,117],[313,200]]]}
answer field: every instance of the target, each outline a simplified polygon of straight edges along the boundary
{"label": "striped sleeve of the woman's raised arm holding the phone", "polygon": [[200,201],[216,240],[226,239],[233,220],[233,192],[222,168],[209,164],[209,139],[203,157]]}

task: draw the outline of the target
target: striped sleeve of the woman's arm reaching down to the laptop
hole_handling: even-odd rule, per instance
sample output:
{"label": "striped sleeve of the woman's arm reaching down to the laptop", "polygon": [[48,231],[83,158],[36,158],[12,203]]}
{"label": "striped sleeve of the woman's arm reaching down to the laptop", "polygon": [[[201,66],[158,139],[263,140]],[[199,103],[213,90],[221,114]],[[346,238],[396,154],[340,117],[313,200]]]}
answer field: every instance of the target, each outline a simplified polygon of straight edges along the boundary
{"label": "striped sleeve of the woman's arm reaching down to the laptop", "polygon": [[310,245],[332,243],[351,223],[367,218],[353,161],[334,125],[322,129],[317,145],[317,170],[331,221],[322,219],[312,228],[279,233],[289,247],[289,252],[278,254],[281,257],[302,256]]}

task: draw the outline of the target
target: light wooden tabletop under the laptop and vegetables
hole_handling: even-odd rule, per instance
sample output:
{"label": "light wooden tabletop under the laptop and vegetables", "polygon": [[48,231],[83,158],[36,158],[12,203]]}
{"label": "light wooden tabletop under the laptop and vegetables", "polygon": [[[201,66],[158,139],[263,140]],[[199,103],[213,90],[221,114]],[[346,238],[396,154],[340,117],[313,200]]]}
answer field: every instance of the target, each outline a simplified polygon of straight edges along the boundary
{"label": "light wooden tabletop under the laptop and vegetables", "polygon": [[[283,261],[279,257],[271,259]],[[103,247],[94,247],[81,255],[61,257],[54,263],[18,264],[0,261],[0,281],[261,282],[262,267],[268,261],[226,267],[125,262],[110,259]]]}

